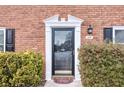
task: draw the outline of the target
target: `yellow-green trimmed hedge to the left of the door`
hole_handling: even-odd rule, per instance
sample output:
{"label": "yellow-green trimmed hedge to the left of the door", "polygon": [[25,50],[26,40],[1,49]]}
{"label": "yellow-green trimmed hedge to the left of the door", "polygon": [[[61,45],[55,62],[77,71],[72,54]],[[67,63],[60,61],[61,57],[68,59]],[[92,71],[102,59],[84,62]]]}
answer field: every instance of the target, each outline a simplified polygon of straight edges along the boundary
{"label": "yellow-green trimmed hedge to the left of the door", "polygon": [[42,56],[34,52],[0,52],[0,87],[37,86],[42,80]]}

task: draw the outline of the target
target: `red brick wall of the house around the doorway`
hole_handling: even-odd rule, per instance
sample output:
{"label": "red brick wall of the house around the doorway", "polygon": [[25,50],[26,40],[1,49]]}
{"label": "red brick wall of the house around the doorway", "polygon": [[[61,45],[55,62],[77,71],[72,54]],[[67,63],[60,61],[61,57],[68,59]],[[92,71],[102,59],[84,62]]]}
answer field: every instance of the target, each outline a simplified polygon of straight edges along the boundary
{"label": "red brick wall of the house around the doorway", "polygon": [[103,28],[124,25],[124,6],[0,6],[0,27],[16,29],[16,51],[33,49],[45,55],[45,28],[43,20],[53,15],[68,14],[84,20],[82,44],[88,25],[93,25],[93,43],[103,42]]}

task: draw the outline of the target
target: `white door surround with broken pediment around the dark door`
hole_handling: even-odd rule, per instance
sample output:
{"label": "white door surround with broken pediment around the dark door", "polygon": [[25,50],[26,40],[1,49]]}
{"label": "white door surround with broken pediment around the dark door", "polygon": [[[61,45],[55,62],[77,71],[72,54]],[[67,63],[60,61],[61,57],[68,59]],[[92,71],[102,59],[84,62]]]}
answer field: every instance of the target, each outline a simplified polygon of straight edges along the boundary
{"label": "white door surround with broken pediment around the dark door", "polygon": [[75,79],[80,80],[78,70],[79,60],[77,49],[81,46],[81,24],[84,20],[72,15],[68,15],[68,19],[61,18],[59,15],[54,15],[44,20],[45,23],[45,54],[46,54],[46,80],[52,79],[52,28],[70,28],[75,29]]}

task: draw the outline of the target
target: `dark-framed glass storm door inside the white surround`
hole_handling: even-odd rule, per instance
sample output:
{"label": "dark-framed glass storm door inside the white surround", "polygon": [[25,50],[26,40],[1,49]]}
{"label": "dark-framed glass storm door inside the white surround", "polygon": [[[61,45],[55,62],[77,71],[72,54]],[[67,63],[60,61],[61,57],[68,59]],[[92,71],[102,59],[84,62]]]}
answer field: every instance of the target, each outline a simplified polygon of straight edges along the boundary
{"label": "dark-framed glass storm door inside the white surround", "polygon": [[74,28],[52,29],[53,75],[74,75]]}

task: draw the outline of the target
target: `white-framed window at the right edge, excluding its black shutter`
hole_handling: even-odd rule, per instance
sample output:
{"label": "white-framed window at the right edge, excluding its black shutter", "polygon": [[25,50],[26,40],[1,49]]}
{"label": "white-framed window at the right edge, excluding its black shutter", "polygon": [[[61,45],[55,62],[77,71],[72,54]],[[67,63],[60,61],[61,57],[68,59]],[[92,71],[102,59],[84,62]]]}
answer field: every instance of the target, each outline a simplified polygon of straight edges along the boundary
{"label": "white-framed window at the right edge, excluding its black shutter", "polygon": [[124,44],[124,34],[119,31],[124,33],[124,26],[113,26],[113,44]]}

